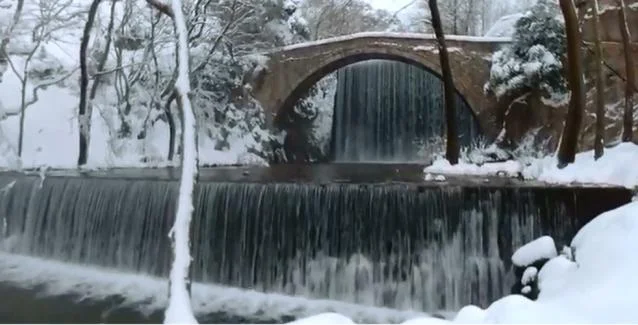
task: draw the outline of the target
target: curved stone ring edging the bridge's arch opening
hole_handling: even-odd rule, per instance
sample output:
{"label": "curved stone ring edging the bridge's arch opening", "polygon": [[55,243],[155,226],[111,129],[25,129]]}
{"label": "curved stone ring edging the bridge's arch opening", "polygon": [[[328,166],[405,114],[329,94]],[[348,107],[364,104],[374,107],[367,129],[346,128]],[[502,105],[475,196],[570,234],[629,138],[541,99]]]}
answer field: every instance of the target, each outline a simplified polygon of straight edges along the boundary
{"label": "curved stone ring edging the bridge's arch opening", "polygon": [[[304,76],[300,77],[296,81],[296,84],[293,86],[292,90],[285,96],[283,101],[281,101],[281,103],[278,105],[279,107],[276,108],[275,123],[277,124],[277,117],[282,117],[282,116],[285,116],[287,113],[289,113],[295,107],[295,104],[299,100],[307,96],[310,89],[312,89],[312,87],[315,84],[317,84],[317,82],[319,82],[322,78],[326,77],[330,73],[333,73],[341,68],[347,67],[355,63],[370,61],[370,60],[388,60],[388,61],[402,62],[402,63],[410,64],[418,68],[421,68],[433,74],[439,79],[442,78],[441,69],[440,69],[439,61],[438,61],[439,60],[438,53],[434,53],[434,56],[436,57],[436,61],[432,62],[430,60],[424,60],[423,57],[420,57],[419,55],[415,55],[411,53],[397,54],[397,53],[390,53],[388,51],[369,51],[369,52],[355,51],[355,52],[358,52],[358,53],[353,53],[350,55],[344,54],[341,56],[337,56],[335,58],[331,58],[330,60],[326,60],[326,62],[323,62],[320,66],[314,69],[309,69]],[[466,104],[466,106],[469,107],[470,114],[472,114],[474,119],[477,121],[479,131],[482,132],[484,129],[484,126],[480,122],[480,119],[478,116],[479,111],[475,108],[475,106],[470,101],[468,101],[468,99],[464,95],[463,87],[465,85],[463,83],[459,85],[457,83],[457,80],[455,80],[454,86],[455,86],[455,92],[456,92],[457,98],[461,99]]]}

